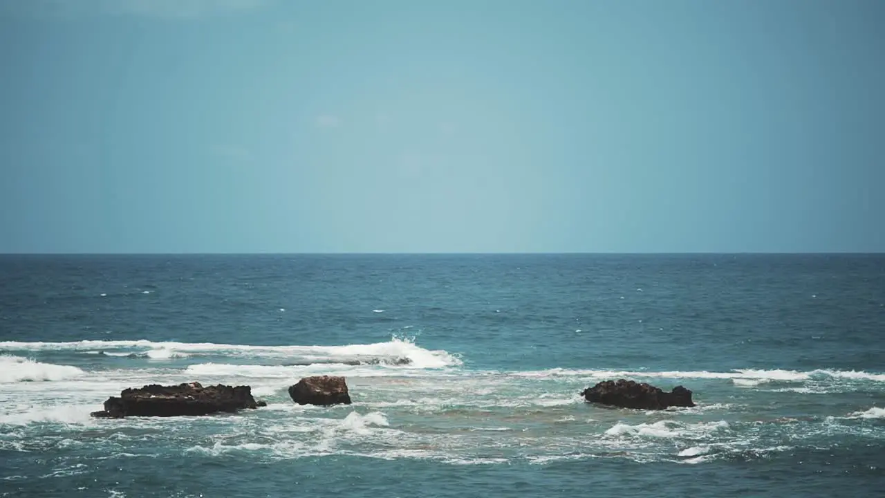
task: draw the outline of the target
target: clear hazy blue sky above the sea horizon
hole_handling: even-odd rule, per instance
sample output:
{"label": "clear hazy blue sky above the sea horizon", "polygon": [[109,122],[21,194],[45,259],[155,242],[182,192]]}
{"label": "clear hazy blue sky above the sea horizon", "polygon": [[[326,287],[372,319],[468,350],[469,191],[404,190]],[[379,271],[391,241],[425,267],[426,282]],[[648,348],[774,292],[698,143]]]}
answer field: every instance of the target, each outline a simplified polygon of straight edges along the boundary
{"label": "clear hazy blue sky above the sea horizon", "polygon": [[881,0],[0,0],[0,253],[885,252]]}

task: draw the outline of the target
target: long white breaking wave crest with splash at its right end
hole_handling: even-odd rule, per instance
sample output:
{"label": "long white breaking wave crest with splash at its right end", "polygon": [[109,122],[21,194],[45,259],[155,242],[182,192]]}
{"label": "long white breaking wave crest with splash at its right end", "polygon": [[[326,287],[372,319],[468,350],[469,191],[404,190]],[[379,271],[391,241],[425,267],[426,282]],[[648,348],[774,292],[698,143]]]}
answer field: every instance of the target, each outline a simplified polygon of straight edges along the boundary
{"label": "long white breaking wave crest with splash at its right end", "polygon": [[[149,357],[166,357],[163,351],[178,355],[233,355],[247,357],[268,357],[280,359],[305,358],[312,361],[334,362],[335,359],[350,360],[370,356],[374,358],[407,358],[411,368],[435,369],[462,364],[461,360],[446,351],[431,351],[417,346],[412,340],[392,338],[387,342],[374,344],[351,344],[346,346],[252,346],[239,344],[154,342],[150,340],[81,340],[74,342],[0,342],[0,350],[6,351],[104,351],[104,354],[119,354],[120,349],[149,350]],[[117,350],[117,351],[114,351]],[[154,356],[151,355],[151,351]],[[136,353],[130,351],[127,354]]]}

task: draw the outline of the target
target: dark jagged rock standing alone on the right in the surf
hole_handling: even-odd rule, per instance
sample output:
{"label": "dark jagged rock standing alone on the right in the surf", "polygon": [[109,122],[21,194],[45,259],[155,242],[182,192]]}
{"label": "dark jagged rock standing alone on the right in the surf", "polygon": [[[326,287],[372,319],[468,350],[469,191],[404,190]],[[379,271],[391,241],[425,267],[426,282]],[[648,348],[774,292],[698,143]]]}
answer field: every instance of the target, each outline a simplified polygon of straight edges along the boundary
{"label": "dark jagged rock standing alone on the right in the surf", "polygon": [[625,409],[666,409],[668,407],[693,407],[691,391],[677,385],[666,393],[658,387],[632,380],[606,380],[581,393],[585,400]]}

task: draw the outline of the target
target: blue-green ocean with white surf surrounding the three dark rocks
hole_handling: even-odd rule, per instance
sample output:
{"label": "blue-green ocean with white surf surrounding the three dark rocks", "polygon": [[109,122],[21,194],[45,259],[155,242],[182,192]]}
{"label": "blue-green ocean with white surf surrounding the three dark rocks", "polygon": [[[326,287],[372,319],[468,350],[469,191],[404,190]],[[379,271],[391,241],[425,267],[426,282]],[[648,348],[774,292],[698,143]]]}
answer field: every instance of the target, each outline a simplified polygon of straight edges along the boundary
{"label": "blue-green ocean with white surf surrounding the three dark rocks", "polygon": [[[881,496],[883,333],[885,255],[4,255],[0,496]],[[268,406],[89,417],[191,381]]]}

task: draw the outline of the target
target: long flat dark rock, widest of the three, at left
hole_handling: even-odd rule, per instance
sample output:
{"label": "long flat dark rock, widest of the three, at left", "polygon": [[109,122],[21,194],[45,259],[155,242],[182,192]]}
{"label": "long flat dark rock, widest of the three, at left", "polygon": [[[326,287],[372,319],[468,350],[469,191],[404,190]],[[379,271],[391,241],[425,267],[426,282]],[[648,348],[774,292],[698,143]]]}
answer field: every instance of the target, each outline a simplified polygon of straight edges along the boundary
{"label": "long flat dark rock, widest of the three, at left", "polygon": [[200,416],[266,406],[264,401],[255,401],[251,391],[249,385],[204,387],[198,382],[145,385],[124,390],[119,398],[109,398],[104,401],[104,410],[93,412],[92,416]]}

